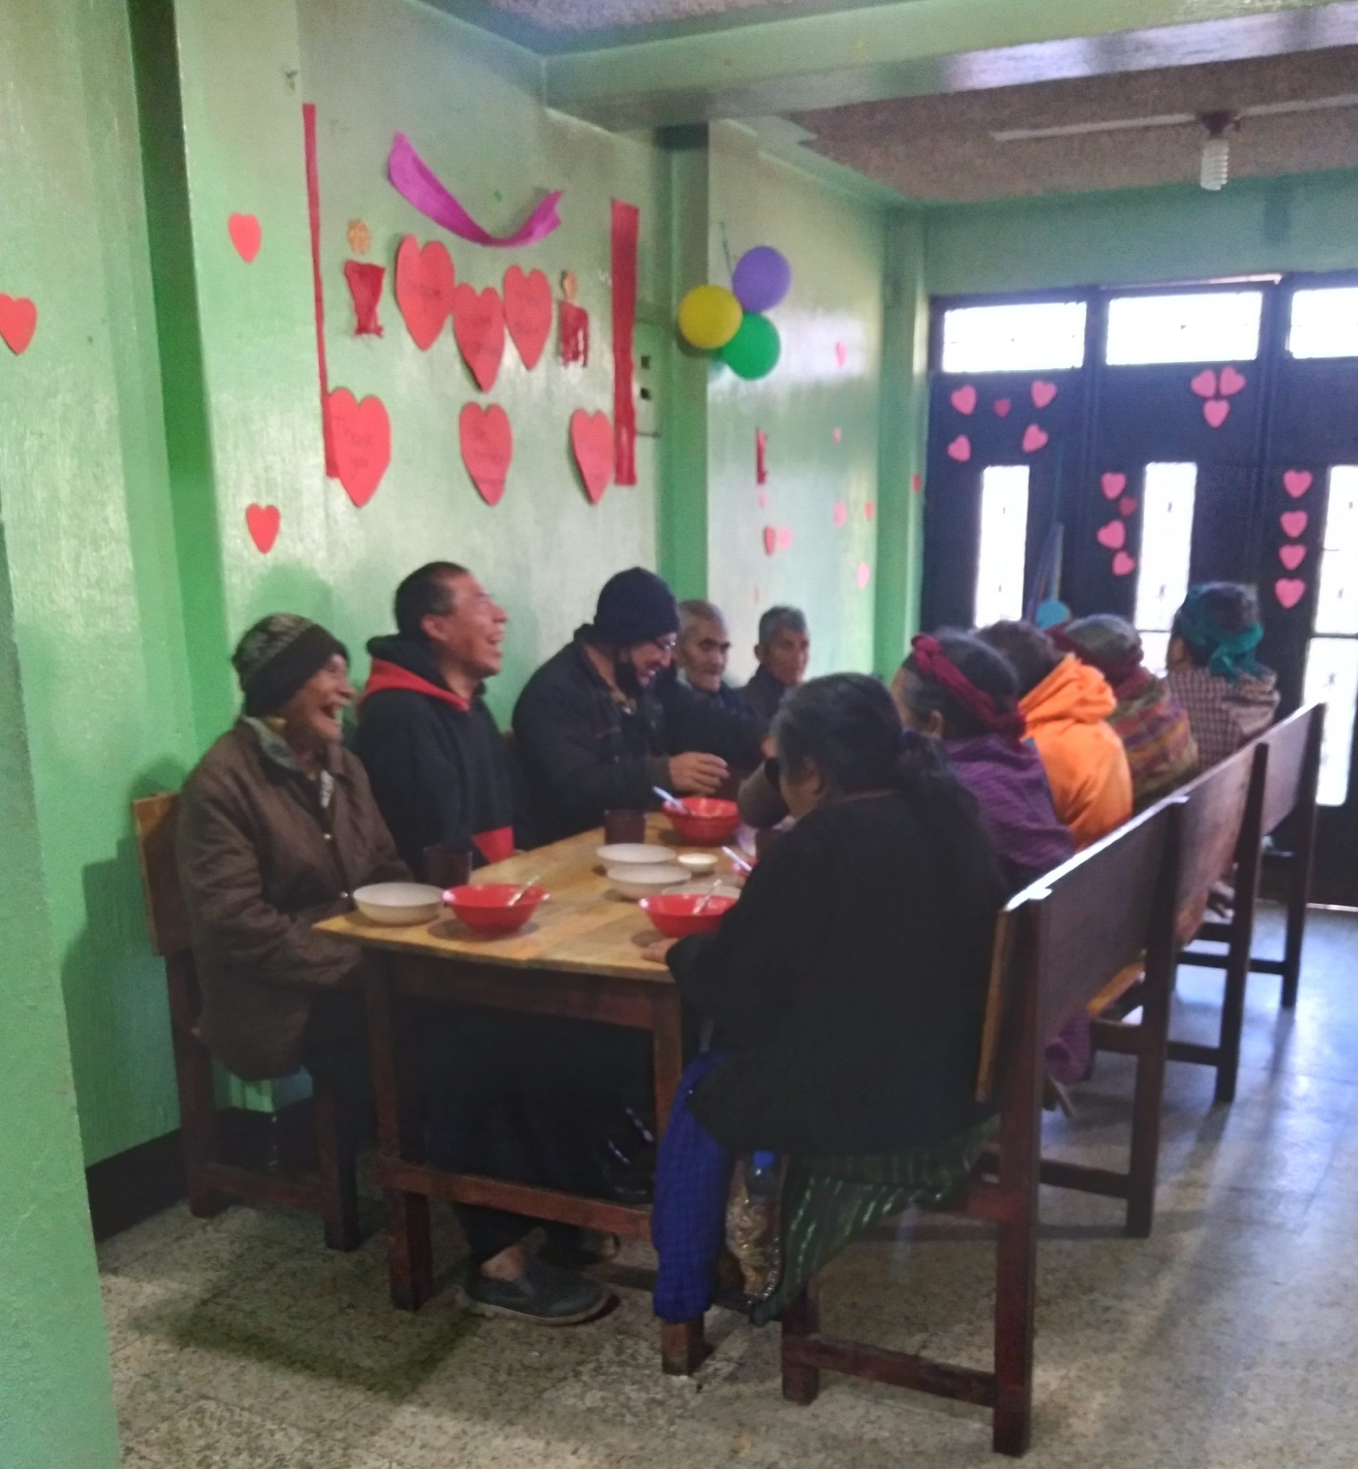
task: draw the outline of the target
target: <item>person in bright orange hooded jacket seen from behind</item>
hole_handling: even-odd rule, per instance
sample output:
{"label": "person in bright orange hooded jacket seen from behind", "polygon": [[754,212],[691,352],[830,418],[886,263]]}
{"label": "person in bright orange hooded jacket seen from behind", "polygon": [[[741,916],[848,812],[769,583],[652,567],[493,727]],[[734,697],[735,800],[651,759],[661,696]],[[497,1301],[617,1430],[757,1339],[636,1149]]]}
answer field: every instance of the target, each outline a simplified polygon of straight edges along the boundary
{"label": "person in bright orange hooded jacket seen from behind", "polygon": [[1076,851],[1098,842],[1132,817],[1127,752],[1105,723],[1117,707],[1108,680],[1058,652],[1032,623],[992,623],[980,636],[1018,674],[1018,712]]}

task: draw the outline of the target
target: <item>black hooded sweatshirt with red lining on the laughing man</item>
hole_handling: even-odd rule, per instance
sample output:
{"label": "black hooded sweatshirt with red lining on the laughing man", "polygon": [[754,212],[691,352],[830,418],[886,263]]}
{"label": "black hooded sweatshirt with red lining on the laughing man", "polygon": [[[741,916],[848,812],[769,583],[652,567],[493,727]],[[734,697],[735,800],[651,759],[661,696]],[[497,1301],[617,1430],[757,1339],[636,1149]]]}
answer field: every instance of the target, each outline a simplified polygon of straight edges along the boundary
{"label": "black hooded sweatshirt with red lining on the laughing man", "polygon": [[495,718],[444,682],[423,643],[373,638],[354,751],[397,851],[422,873],[426,846],[498,862],[528,846],[520,783]]}

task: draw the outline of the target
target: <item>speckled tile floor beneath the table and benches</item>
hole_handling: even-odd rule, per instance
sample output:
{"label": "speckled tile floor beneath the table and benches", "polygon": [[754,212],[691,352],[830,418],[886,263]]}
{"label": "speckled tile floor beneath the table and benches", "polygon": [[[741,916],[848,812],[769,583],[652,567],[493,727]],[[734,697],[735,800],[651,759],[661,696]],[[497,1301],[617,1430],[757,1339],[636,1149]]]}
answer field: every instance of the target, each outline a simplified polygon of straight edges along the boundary
{"label": "speckled tile floor beneath the table and benches", "polygon": [[[1276,933],[1265,912],[1264,933]],[[1110,1200],[1043,1190],[1035,1469],[1343,1466],[1358,1459],[1358,920],[1315,914],[1301,1005],[1252,981],[1239,1100],[1170,1066],[1160,1215],[1118,1234]],[[1185,970],[1179,1034],[1210,1039],[1220,981]],[[1102,1056],[1063,1156],[1120,1158],[1127,1068]],[[441,1240],[453,1268],[456,1232]],[[285,1212],[181,1206],[100,1250],[123,1463],[135,1469],[811,1469],[996,1462],[986,1415],[824,1378],[782,1401],[776,1329],[714,1312],[714,1356],[661,1376],[647,1250],[620,1306],[544,1331],[387,1300],[381,1237],[351,1256]],[[980,1227],[907,1216],[848,1250],[826,1324],[985,1365],[992,1247]]]}

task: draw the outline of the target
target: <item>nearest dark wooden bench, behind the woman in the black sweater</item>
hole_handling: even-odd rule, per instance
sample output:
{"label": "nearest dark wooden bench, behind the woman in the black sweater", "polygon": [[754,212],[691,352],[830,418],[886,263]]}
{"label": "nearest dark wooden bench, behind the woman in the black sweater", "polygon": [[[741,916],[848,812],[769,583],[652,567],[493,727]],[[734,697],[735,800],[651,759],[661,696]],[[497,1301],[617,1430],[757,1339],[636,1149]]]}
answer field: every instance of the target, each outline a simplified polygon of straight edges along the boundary
{"label": "nearest dark wooden bench, behind the woman in the black sweater", "polygon": [[[1048,1166],[1041,1156],[1045,1044],[1127,965],[1145,956],[1155,974],[1171,967],[1183,809],[1171,801],[1135,818],[1020,893],[1001,915],[977,1066],[980,1100],[996,1094],[998,1077],[998,1149],[982,1161],[961,1205],[963,1213],[998,1227],[994,1369],[826,1335],[813,1279],[782,1318],[783,1397],[810,1403],[823,1371],[845,1372],[988,1406],[996,1453],[1027,1450],[1038,1188]],[[1148,1056],[1146,1065],[1154,1061]],[[1163,1072],[1163,1053],[1160,1066]],[[1154,1083],[1145,1096],[1154,1097],[1158,1121]]]}

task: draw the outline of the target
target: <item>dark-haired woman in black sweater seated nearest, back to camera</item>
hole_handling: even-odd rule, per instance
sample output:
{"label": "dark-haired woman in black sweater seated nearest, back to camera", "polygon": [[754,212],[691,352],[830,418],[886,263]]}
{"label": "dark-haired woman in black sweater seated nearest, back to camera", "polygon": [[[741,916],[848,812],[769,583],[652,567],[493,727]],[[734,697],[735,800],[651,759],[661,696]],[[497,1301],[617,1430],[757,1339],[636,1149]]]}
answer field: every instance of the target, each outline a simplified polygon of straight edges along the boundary
{"label": "dark-haired woman in black sweater seated nearest, back to camera", "polygon": [[[976,1064],[1004,883],[976,801],[863,674],[789,693],[773,740],[797,826],[716,933],[648,950],[713,1022],[657,1169],[666,1321],[710,1299],[736,1155],[779,1155],[847,1188],[864,1171],[876,1180],[864,1187],[885,1177],[877,1203],[905,1208],[966,1175],[985,1116]],[[913,1188],[924,1175],[929,1187]],[[794,1275],[819,1268],[842,1232],[820,1234]]]}

